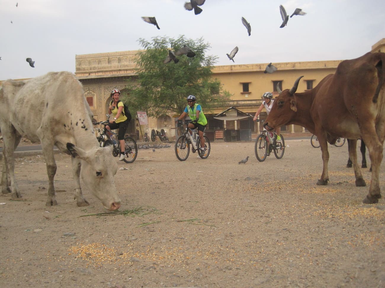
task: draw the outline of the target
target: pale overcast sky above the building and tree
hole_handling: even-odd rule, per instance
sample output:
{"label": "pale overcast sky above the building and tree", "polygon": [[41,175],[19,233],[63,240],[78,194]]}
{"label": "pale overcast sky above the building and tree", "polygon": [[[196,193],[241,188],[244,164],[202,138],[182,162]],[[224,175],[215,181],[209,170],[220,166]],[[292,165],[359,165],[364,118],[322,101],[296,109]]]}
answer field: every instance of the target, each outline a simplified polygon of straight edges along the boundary
{"label": "pale overcast sky above the building and tree", "polygon": [[[139,38],[155,36],[203,37],[216,65],[233,64],[226,53],[235,46],[234,64],[352,59],[385,37],[384,0],[207,0],[199,15],[185,2],[0,0],[0,80],[75,72],[75,55],[138,50]],[[295,8],[307,15],[280,28],[280,4],[288,15]],[[142,16],[155,16],[161,29]]]}

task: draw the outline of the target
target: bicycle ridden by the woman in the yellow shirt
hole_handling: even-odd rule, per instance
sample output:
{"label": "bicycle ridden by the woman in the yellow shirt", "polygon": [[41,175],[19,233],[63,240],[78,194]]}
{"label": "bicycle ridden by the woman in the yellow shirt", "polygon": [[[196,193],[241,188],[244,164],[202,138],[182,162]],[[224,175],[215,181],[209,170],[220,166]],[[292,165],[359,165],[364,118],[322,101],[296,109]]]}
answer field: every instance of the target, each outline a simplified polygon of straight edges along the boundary
{"label": "bicycle ridden by the woman in the yellow shirt", "polygon": [[[96,139],[99,142],[100,147],[104,147],[106,141],[110,140],[114,145],[114,148],[112,149],[112,155],[114,157],[118,157],[120,156],[120,151],[121,151],[120,142],[115,139],[115,136],[117,136],[117,133],[105,127],[108,124],[109,124],[109,120],[95,123],[95,125],[99,125],[99,127],[95,127],[95,130],[99,133]],[[107,131],[112,133],[110,137],[107,135],[106,133]],[[136,145],[136,141],[131,137],[125,137],[124,143],[125,143],[124,154],[126,154],[126,157],[123,159],[123,161],[126,163],[132,163],[135,161],[138,155],[138,146]]]}

